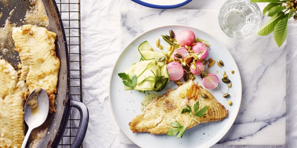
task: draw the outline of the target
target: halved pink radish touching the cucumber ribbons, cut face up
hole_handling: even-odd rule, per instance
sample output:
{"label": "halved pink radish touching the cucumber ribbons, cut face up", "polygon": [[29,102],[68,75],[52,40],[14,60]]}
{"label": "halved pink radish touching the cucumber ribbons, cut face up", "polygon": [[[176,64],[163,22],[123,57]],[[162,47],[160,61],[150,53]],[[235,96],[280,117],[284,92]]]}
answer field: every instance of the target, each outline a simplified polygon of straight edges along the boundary
{"label": "halved pink radish touching the cucumber ribbons, cut face up", "polygon": [[183,77],[183,66],[178,62],[170,62],[167,64],[167,72],[170,80],[179,80]]}

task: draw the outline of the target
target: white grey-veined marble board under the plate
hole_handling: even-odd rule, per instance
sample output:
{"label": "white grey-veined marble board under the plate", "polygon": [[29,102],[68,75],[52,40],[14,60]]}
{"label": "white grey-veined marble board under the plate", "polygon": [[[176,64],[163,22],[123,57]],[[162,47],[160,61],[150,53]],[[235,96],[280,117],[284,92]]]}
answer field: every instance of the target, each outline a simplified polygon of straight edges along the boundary
{"label": "white grey-veined marble board under the plate", "polygon": [[[285,144],[285,43],[278,48],[272,34],[254,35],[245,40],[231,39],[220,29],[217,15],[218,10],[122,10],[121,48],[140,33],[163,25],[189,25],[214,36],[233,55],[243,90],[234,125],[217,144]],[[131,141],[121,132],[120,142],[129,144]]]}

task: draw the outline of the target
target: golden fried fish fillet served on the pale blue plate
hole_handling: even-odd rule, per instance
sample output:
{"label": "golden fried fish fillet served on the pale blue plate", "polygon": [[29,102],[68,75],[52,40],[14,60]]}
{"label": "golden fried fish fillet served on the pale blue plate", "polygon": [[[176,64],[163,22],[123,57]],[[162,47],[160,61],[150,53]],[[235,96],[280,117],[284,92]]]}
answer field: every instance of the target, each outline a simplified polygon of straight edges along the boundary
{"label": "golden fried fish fillet served on the pale blue plate", "polygon": [[[209,98],[203,98],[201,96],[202,93]],[[185,97],[181,97],[183,95]],[[202,109],[205,105],[209,106],[205,116],[195,116],[195,119],[201,123],[219,121],[227,116],[228,110],[221,103],[217,102],[210,92],[199,87],[198,84],[191,80],[174,90],[168,89],[163,96],[150,103],[141,114],[134,117],[129,123],[130,130],[133,133],[166,134],[168,129],[172,128],[170,124],[174,121],[178,121],[181,125],[186,126],[191,122],[189,113],[180,113],[182,109],[187,108],[186,105],[193,107],[197,101],[199,101],[199,109]],[[197,124],[199,123],[193,121],[187,129]]]}

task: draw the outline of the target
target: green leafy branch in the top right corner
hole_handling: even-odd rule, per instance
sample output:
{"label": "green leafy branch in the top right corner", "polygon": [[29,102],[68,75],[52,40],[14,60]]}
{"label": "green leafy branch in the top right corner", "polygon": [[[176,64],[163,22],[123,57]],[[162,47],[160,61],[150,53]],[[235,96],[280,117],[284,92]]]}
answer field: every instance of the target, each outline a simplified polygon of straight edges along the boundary
{"label": "green leafy branch in the top right corner", "polygon": [[288,33],[288,19],[293,16],[297,20],[297,0],[251,0],[251,2],[270,2],[263,9],[263,15],[268,12],[271,18],[260,27],[257,34],[269,35],[273,32],[278,47],[282,46]]}

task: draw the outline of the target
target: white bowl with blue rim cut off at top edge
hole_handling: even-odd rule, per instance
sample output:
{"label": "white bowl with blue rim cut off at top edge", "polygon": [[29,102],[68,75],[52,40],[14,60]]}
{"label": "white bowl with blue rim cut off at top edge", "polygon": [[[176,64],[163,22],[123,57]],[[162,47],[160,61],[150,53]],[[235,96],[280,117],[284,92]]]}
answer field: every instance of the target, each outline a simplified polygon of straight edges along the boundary
{"label": "white bowl with blue rim cut off at top edge", "polygon": [[142,6],[156,9],[173,9],[186,5],[192,0],[131,0]]}

